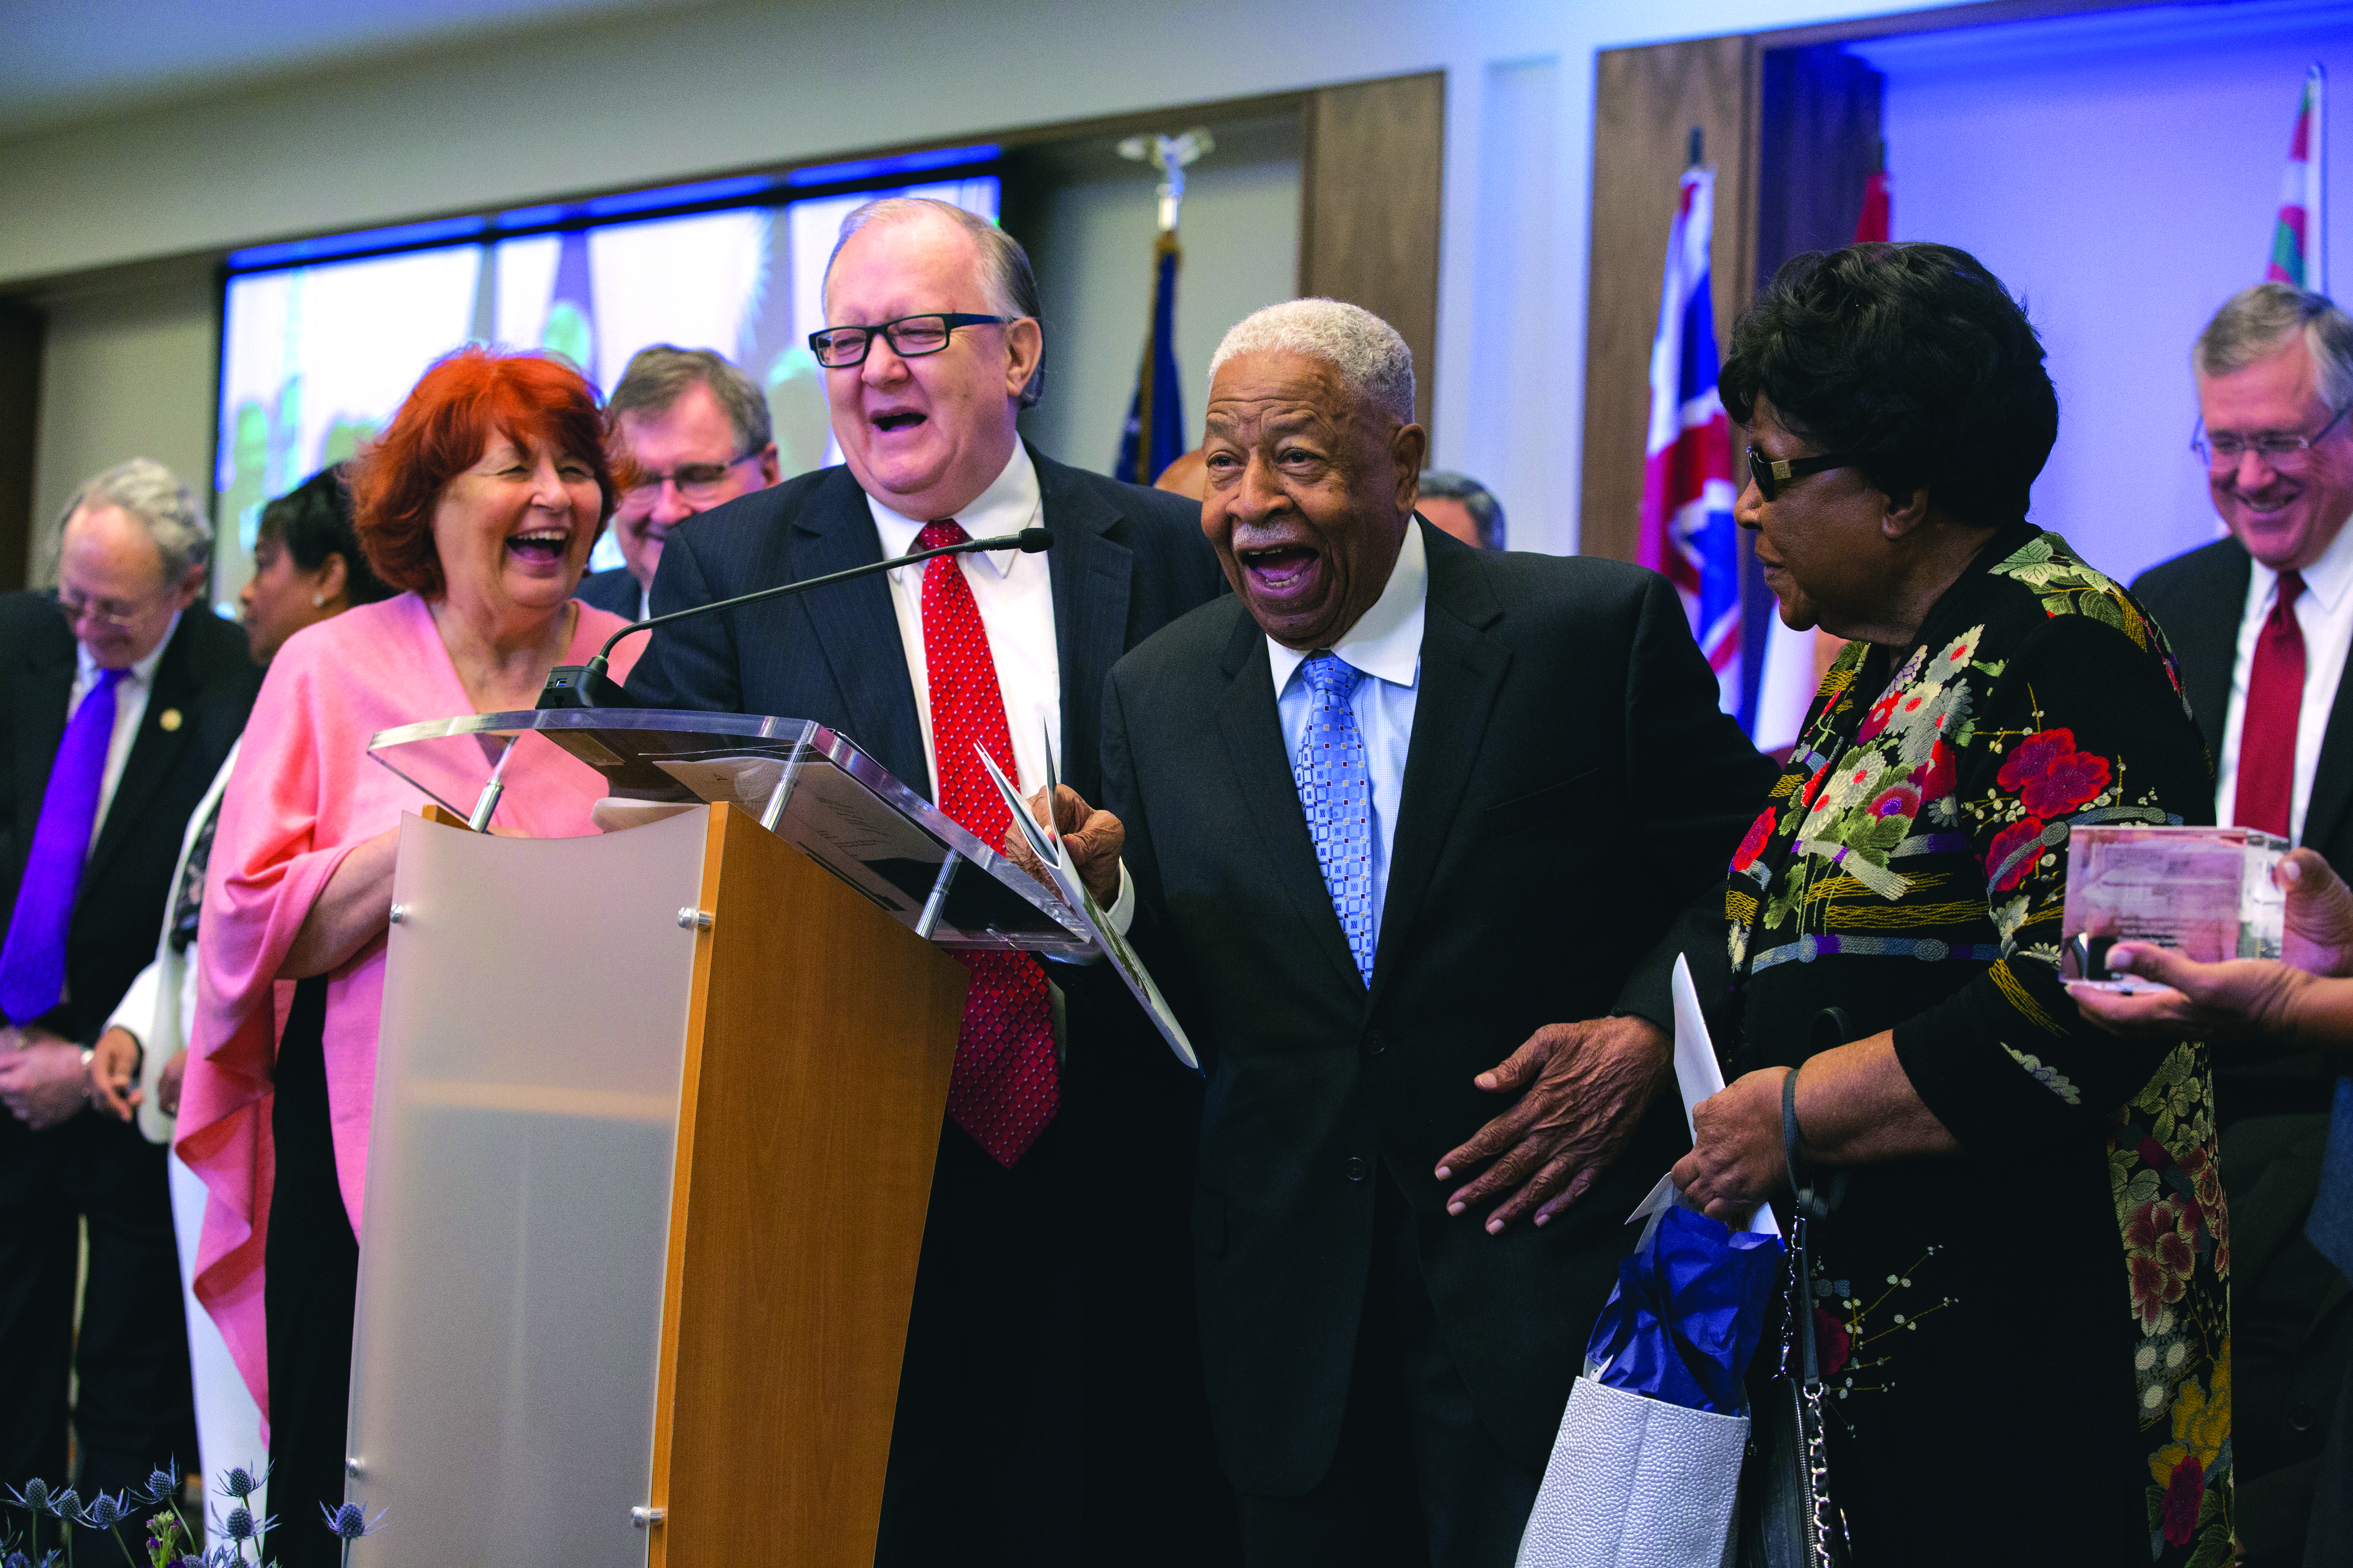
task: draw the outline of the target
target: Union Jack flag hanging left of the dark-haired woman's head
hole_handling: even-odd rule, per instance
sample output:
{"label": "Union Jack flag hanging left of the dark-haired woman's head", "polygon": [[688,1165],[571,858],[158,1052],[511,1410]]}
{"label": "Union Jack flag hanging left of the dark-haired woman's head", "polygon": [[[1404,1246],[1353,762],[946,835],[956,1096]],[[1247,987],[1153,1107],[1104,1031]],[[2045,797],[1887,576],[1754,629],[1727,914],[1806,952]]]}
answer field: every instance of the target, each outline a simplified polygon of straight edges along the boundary
{"label": "Union Jack flag hanging left of the dark-haired woman's head", "polygon": [[1642,564],[1682,595],[1725,712],[1741,710],[1741,550],[1732,522],[1732,423],[1715,395],[1708,240],[1715,174],[1682,172],[1666,235],[1659,336],[1649,343],[1649,440],[1642,470]]}

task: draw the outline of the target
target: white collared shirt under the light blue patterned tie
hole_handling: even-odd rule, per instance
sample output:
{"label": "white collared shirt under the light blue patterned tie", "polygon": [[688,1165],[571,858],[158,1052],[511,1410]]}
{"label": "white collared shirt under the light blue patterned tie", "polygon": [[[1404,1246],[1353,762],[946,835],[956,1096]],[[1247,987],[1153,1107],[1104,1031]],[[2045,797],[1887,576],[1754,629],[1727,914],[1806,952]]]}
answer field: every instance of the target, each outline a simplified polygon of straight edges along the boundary
{"label": "white collared shirt under the light blue patterned tie", "polygon": [[[1348,693],[1348,712],[1365,738],[1365,769],[1372,773],[1372,940],[1381,940],[1381,905],[1388,900],[1388,853],[1398,842],[1398,795],[1405,790],[1405,755],[1414,743],[1414,701],[1421,693],[1421,623],[1431,599],[1431,557],[1421,529],[1405,527],[1398,564],[1388,585],[1355,625],[1339,635],[1332,654],[1365,679]],[[1282,722],[1287,759],[1299,757],[1315,691],[1299,665],[1299,649],[1266,639],[1266,661],[1275,675],[1275,715]],[[1304,806],[1301,806],[1304,811]]]}

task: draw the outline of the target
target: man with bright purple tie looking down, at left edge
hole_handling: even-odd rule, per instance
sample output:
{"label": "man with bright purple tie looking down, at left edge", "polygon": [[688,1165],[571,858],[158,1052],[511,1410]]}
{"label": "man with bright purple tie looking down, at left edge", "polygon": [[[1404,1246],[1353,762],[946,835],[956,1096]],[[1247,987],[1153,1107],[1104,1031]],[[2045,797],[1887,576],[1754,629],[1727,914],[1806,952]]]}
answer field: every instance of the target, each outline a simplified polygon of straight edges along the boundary
{"label": "man with bright purple tie looking down, at left edge", "polygon": [[[87,1114],[87,1063],[155,957],[188,813],[261,686],[245,632],[198,607],[209,552],[212,529],[188,489],[134,458],[66,505],[56,592],[0,595],[7,1486],[64,1479],[73,1371],[73,1479],[85,1497],[195,1455],[165,1152]],[[85,1218],[89,1279],[75,1338]]]}

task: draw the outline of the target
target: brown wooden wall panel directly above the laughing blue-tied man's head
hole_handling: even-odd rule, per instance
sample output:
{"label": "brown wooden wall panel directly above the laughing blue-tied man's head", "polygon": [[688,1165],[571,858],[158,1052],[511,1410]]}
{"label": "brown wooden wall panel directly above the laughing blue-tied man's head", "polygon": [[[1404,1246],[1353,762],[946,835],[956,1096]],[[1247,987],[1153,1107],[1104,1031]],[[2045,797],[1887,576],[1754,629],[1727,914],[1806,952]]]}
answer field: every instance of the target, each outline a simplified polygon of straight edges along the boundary
{"label": "brown wooden wall panel directly above the laughing blue-tied man's head", "polygon": [[1414,350],[1414,414],[1438,371],[1442,71],[1322,87],[1301,113],[1299,294],[1365,306]]}

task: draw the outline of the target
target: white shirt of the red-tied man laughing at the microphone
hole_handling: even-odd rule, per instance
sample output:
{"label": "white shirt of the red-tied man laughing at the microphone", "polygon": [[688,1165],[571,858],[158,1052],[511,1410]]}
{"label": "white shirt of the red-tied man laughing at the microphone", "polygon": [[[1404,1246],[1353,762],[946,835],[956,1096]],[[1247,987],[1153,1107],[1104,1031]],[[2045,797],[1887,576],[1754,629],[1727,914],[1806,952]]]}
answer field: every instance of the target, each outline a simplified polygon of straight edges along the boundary
{"label": "white shirt of the red-tied man laughing at the microphone", "polygon": [[[901,517],[866,496],[882,534],[882,555],[906,555],[915,548],[932,517]],[[1038,491],[1038,465],[1028,449],[1014,442],[1005,473],[981,496],[955,515],[972,538],[1019,534],[1040,527],[1045,498]],[[972,585],[972,602],[988,632],[988,658],[998,665],[998,696],[1005,698],[1005,729],[1014,743],[1014,783],[1024,795],[1045,788],[1047,757],[1061,748],[1061,654],[1054,646],[1054,581],[1045,552],[991,550],[986,555],[951,555]],[[929,562],[885,571],[892,609],[899,614],[899,644],[906,649],[906,672],[915,682],[915,722],[922,724],[922,755],[932,766],[932,799],[939,799],[939,750],[932,743],[932,684],[922,661],[922,571]],[[1056,748],[1049,752],[1047,748]],[[1056,771],[1059,776],[1059,771]]]}

